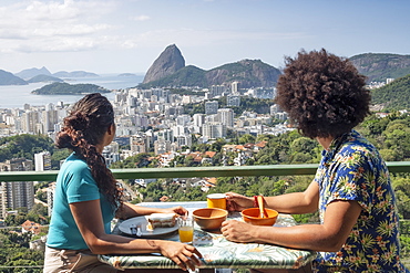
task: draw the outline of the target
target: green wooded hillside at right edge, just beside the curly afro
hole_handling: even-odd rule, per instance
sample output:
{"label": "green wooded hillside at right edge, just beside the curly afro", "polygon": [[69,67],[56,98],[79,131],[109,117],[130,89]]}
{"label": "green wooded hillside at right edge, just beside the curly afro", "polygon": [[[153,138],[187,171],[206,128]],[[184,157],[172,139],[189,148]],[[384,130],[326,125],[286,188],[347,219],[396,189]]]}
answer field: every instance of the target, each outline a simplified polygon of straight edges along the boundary
{"label": "green wooded hillside at right edge, just beside the curly afro", "polygon": [[410,109],[410,74],[372,91],[371,97],[385,111]]}

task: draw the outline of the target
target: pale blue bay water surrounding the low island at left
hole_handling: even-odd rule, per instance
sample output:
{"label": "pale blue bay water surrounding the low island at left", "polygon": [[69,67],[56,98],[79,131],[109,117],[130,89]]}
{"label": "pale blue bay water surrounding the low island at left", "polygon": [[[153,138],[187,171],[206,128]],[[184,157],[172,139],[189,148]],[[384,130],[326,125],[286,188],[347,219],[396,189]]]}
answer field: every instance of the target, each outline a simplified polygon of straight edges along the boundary
{"label": "pale blue bay water surrounding the low island at left", "polygon": [[[135,87],[143,80],[144,75],[119,75],[105,74],[94,77],[72,77],[62,78],[70,84],[90,83],[102,86],[107,90],[124,90]],[[32,91],[41,88],[49,83],[32,83],[29,85],[0,85],[0,108],[23,108],[24,104],[31,106],[41,106],[49,103],[57,104],[58,102],[74,103],[83,95],[34,95]],[[115,92],[103,94],[110,101],[114,99]]]}

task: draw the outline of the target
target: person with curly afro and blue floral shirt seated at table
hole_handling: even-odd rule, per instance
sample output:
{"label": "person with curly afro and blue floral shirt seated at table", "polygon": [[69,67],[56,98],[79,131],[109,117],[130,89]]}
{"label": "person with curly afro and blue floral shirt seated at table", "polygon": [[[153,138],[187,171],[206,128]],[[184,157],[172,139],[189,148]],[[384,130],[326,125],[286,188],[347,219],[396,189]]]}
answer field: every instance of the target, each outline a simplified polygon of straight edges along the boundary
{"label": "person with curly afro and blue floral shirt seated at table", "polygon": [[[301,51],[286,61],[276,103],[324,151],[304,192],[266,197],[265,206],[295,214],[319,210],[320,223],[276,228],[226,221],[223,234],[236,242],[318,251],[315,272],[407,272],[388,169],[375,146],[353,130],[369,113],[365,77],[348,60],[325,50]],[[253,207],[252,198],[227,196],[230,210]]]}

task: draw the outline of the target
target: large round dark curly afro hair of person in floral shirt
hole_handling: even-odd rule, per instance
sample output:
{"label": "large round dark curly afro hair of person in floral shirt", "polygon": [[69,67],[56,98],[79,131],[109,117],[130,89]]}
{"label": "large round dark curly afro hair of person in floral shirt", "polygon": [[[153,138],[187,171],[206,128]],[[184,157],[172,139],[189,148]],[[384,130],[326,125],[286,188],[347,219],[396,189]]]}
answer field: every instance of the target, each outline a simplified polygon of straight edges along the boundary
{"label": "large round dark curly afro hair of person in floral shirt", "polygon": [[287,57],[277,83],[276,103],[303,135],[337,137],[350,132],[370,113],[366,77],[351,62],[326,50]]}

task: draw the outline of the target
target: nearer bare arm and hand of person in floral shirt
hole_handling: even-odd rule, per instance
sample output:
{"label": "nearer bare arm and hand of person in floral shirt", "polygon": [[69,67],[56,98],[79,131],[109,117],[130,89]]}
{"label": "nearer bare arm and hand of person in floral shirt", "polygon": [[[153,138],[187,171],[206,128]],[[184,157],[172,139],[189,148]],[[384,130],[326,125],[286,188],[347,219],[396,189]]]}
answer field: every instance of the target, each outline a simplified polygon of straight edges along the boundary
{"label": "nearer bare arm and hand of person in floral shirt", "polygon": [[289,228],[252,225],[225,221],[222,232],[234,242],[273,243],[287,248],[315,251],[340,250],[359,218],[357,201],[336,200],[328,204],[322,224],[300,224]]}

